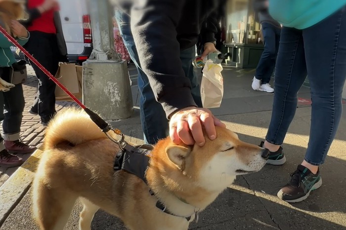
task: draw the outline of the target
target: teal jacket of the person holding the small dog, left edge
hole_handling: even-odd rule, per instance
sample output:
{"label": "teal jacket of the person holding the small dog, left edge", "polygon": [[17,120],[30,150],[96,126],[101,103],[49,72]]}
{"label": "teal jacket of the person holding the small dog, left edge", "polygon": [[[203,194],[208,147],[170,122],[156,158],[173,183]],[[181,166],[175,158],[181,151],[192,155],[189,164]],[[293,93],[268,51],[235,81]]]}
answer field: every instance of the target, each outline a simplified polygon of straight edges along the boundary
{"label": "teal jacket of the person holding the small dog, left edge", "polygon": [[[17,41],[20,45],[24,45],[28,42],[28,38],[17,38]],[[0,33],[0,67],[8,67],[16,62],[14,55],[10,49],[13,46],[13,43],[10,42],[3,34]]]}

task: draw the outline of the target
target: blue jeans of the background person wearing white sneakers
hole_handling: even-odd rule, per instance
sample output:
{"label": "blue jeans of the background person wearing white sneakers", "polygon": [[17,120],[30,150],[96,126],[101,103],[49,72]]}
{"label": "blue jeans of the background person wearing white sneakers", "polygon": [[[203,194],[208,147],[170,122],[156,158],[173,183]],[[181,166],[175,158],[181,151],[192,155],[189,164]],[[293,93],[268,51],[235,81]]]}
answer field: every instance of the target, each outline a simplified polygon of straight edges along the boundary
{"label": "blue jeans of the background person wearing white sneakers", "polygon": [[264,50],[256,68],[256,78],[262,80],[262,84],[269,83],[273,74],[276,62],[276,55],[279,50],[281,29],[270,23],[262,23],[262,33],[264,37]]}

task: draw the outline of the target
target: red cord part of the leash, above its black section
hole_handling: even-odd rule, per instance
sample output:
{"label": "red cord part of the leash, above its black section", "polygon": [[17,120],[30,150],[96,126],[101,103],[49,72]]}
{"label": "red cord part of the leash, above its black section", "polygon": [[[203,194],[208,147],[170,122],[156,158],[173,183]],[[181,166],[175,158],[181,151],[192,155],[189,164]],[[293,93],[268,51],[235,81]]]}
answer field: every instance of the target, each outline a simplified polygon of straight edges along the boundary
{"label": "red cord part of the leash, above its black section", "polygon": [[17,46],[24,54],[27,56],[35,65],[37,65],[44,74],[46,74],[52,81],[55,82],[62,90],[64,90],[65,93],[67,93],[80,107],[83,109],[86,109],[85,105],[80,102],[75,95],[73,95],[68,89],[61,84],[53,75],[51,75],[28,51],[26,51],[16,39],[14,39],[12,36],[10,36],[1,26],[0,26],[0,32],[9,40],[11,41],[15,46]]}

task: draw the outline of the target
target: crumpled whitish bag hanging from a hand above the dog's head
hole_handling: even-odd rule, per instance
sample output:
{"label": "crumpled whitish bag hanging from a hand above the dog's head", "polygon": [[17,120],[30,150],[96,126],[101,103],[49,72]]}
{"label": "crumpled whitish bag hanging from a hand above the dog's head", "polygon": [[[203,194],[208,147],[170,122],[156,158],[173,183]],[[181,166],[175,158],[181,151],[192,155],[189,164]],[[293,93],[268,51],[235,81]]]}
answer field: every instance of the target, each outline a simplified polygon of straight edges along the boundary
{"label": "crumpled whitish bag hanging from a hand above the dog's head", "polygon": [[201,97],[203,108],[218,108],[223,97],[223,78],[220,64],[208,60],[203,68]]}

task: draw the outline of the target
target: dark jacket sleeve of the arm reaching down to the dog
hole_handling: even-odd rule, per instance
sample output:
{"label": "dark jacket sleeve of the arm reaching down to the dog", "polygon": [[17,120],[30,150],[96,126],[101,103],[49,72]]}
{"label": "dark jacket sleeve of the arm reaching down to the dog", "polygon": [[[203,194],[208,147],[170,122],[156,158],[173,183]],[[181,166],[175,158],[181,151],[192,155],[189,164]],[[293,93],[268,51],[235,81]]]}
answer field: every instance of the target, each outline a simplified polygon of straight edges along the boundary
{"label": "dark jacket sleeve of the arm reaching down to the dog", "polygon": [[176,39],[175,28],[184,2],[136,0],[131,9],[131,31],[141,67],[168,118],[179,109],[196,106]]}

